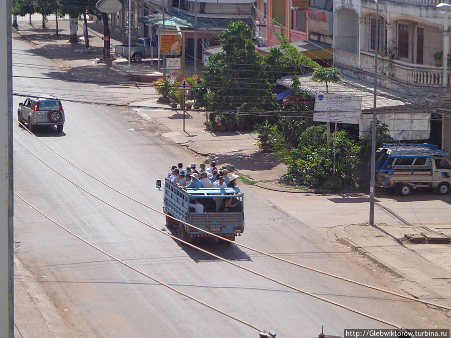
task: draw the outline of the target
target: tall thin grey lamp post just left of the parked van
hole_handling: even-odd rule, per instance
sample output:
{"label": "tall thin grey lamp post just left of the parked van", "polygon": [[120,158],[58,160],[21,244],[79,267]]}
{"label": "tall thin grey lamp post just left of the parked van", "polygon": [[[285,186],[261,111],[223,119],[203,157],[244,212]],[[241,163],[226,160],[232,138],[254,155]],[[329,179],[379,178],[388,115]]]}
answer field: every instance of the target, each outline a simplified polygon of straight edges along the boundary
{"label": "tall thin grey lamp post just left of the parked van", "polygon": [[376,3],[376,42],[374,44],[374,96],[373,96],[373,128],[371,134],[371,173],[370,173],[370,214],[369,224],[374,225],[374,188],[376,181],[376,89],[377,89],[377,52],[379,50],[379,3]]}

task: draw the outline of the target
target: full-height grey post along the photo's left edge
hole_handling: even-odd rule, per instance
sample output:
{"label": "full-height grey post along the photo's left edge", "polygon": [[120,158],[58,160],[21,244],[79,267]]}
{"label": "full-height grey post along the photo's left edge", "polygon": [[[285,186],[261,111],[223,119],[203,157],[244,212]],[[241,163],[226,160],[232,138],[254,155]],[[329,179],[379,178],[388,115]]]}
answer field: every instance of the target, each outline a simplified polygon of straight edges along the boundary
{"label": "full-height grey post along the photo's left edge", "polygon": [[2,52],[0,78],[0,337],[14,336],[14,273],[13,273],[13,78],[11,0],[2,2],[0,29]]}

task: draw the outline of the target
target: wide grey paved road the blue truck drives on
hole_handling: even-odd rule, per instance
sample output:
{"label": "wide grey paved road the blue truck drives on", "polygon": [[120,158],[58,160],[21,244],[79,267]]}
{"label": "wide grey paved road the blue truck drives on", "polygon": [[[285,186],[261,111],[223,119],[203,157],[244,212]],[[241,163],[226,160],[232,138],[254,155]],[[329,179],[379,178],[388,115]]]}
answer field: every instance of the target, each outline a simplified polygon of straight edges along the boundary
{"label": "wide grey paved road the blue truck drives on", "polygon": [[[49,73],[53,80],[48,79]],[[14,75],[34,77],[15,78],[15,92],[20,89],[22,93],[56,93],[62,98],[83,97],[87,101],[117,100],[117,93],[95,84],[75,82],[76,78],[33,55],[28,45],[17,41]],[[15,107],[19,101],[14,98]],[[260,328],[274,330],[278,336],[315,336],[322,324],[326,332],[336,335],[347,327],[387,327],[182,247],[106,205],[108,202],[165,229],[161,215],[89,178],[43,143],[93,176],[157,209],[161,208],[162,195],[154,188],[155,180],[162,178],[178,160],[199,161],[151,130],[140,130],[140,123],[133,122],[134,115],[129,111],[79,102],[66,102],[65,111],[64,133],[43,128],[34,137],[20,127],[14,129],[15,191],[43,213],[145,273]],[[371,264],[362,266],[352,253],[332,245],[253,188],[243,186],[243,190],[246,231],[239,242],[332,273],[393,288],[393,276]],[[120,265],[19,199],[15,199],[15,241],[17,257],[48,294],[67,326],[68,336],[257,336],[255,329]],[[442,314],[423,306],[319,276],[236,245],[205,242],[201,246],[402,326],[446,326]]]}

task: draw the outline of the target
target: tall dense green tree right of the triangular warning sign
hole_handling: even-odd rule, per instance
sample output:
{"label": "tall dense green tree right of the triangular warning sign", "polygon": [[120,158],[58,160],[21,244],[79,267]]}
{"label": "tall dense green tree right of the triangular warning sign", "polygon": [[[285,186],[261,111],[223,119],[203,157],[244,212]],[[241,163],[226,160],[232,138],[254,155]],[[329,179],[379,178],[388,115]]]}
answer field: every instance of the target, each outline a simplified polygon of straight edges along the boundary
{"label": "tall dense green tree right of the triangular warning sign", "polygon": [[263,72],[263,58],[255,51],[256,38],[244,22],[234,22],[219,33],[222,51],[208,58],[201,87],[206,108],[263,110],[271,106],[274,87]]}

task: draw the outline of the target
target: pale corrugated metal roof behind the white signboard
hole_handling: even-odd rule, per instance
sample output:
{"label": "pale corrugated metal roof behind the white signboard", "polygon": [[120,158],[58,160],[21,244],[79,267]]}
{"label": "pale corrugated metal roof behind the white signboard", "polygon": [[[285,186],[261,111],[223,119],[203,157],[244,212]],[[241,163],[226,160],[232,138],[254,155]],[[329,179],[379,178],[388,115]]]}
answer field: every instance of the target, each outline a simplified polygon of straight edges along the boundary
{"label": "pale corrugated metal roof behind the white signboard", "polygon": [[[301,87],[301,91],[307,93],[307,95],[316,97],[319,93],[326,93],[326,84],[325,83],[318,83],[311,80],[312,75],[306,74],[306,75],[299,75],[298,78],[301,81],[301,84],[303,85]],[[285,76],[281,78],[280,80],[277,80],[278,85],[285,86],[287,88],[292,89],[292,76]],[[329,93],[330,94],[340,94],[340,95],[354,95],[354,96],[361,96],[362,97],[362,112],[364,110],[371,110],[373,109],[373,100],[374,100],[374,94],[372,93],[373,88],[368,87],[368,84],[362,82],[358,84],[359,87],[366,87],[369,91],[365,91],[362,89],[357,89],[351,86],[348,86],[344,82],[338,82],[338,83],[328,83],[329,87]],[[377,93],[384,94],[383,91],[377,91]],[[401,100],[395,100],[390,99],[382,95],[376,96],[376,109],[377,108],[383,108],[383,107],[393,107],[393,106],[404,106],[406,105],[405,102]]]}

